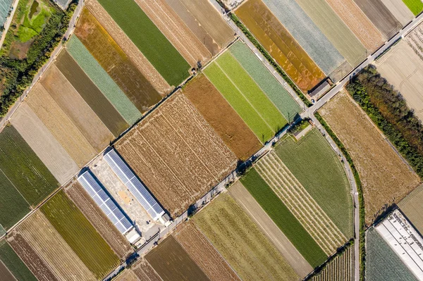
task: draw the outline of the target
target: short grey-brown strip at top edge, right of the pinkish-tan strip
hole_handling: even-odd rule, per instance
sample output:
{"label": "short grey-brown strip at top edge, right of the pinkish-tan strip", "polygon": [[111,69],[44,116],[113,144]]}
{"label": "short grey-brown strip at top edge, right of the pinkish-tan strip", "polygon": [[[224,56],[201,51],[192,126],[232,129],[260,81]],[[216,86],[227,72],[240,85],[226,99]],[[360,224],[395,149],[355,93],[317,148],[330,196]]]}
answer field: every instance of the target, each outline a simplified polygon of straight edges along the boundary
{"label": "short grey-brown strip at top edge, right of the pinkish-tan strip", "polygon": [[390,39],[403,27],[381,0],[354,0],[367,18],[379,29],[385,39]]}

